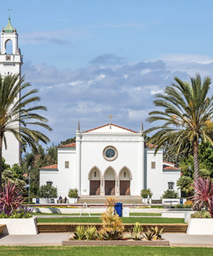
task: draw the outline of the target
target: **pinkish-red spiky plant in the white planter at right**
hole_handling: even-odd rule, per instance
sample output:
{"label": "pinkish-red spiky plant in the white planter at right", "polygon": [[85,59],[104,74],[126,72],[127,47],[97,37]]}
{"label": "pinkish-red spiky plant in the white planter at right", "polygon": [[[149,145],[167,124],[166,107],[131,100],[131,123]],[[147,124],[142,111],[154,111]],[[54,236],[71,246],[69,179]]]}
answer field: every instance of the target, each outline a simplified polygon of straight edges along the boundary
{"label": "pinkish-red spiky plant in the white planter at right", "polygon": [[194,208],[211,208],[213,202],[212,180],[209,177],[207,179],[205,177],[198,177],[198,179],[195,180],[194,185],[192,185],[192,187],[194,187],[195,191],[194,196],[192,196],[192,199],[194,201]]}

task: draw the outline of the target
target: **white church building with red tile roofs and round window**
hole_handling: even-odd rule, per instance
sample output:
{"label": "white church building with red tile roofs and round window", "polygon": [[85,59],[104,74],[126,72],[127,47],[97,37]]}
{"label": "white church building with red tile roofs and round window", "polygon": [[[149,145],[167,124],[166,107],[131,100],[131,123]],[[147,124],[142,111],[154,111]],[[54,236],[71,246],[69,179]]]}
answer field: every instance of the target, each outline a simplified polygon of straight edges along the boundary
{"label": "white church building with red tile roofs and round window", "polygon": [[163,162],[163,148],[155,155],[140,132],[106,124],[81,132],[76,142],[58,146],[58,165],[40,169],[40,186],[47,183],[67,197],[70,188],[80,196],[139,196],[150,188],[152,199],[167,189],[177,190],[180,169]]}

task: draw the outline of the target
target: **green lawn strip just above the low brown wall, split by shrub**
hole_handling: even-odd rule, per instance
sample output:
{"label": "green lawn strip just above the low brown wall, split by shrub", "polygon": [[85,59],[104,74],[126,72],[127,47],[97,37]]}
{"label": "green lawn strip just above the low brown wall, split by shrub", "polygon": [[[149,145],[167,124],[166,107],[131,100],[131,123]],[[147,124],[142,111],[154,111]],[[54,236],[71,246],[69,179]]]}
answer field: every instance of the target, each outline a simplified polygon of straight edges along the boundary
{"label": "green lawn strip just above the low brown wall, split by shrub", "polygon": [[[184,219],[172,218],[122,218],[124,223],[184,223]],[[98,217],[70,217],[70,218],[38,218],[39,223],[100,223],[101,219]]]}

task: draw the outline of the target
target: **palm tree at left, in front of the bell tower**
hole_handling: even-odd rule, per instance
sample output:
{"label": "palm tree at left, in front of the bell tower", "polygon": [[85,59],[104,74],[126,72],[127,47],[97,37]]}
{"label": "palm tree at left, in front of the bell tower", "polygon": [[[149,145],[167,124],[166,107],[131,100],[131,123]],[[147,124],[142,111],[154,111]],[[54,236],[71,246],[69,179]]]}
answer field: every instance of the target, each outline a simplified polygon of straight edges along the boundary
{"label": "palm tree at left, in front of the bell tower", "polygon": [[40,100],[35,94],[37,90],[22,91],[31,85],[24,83],[24,77],[19,79],[19,74],[0,76],[0,189],[2,184],[2,144],[4,142],[7,149],[7,139],[5,132],[12,133],[15,138],[24,141],[36,148],[39,141],[49,142],[49,138],[44,133],[34,130],[33,126],[44,127],[52,130],[47,125],[47,118],[44,118],[37,110],[47,110],[46,107],[37,105]]}

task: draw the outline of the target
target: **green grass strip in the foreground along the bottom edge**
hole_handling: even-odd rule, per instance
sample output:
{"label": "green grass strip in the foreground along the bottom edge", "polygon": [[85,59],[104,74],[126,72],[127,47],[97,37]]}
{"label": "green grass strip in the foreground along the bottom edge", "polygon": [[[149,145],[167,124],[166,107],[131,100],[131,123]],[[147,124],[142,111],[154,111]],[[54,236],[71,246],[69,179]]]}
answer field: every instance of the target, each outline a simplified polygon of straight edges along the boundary
{"label": "green grass strip in the foreground along the bottom edge", "polygon": [[146,246],[103,246],[103,247],[21,247],[1,246],[4,256],[212,256],[213,248],[204,247],[146,247]]}

